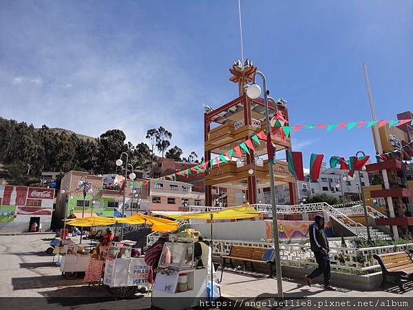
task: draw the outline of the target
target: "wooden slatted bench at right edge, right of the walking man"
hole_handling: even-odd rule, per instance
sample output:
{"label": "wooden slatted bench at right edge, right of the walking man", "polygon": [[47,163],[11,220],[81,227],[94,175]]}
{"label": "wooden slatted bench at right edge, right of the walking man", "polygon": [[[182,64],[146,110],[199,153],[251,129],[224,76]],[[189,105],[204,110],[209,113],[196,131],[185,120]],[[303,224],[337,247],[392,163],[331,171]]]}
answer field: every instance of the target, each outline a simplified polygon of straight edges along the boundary
{"label": "wooden slatted bench at right edge, right of the walking man", "polygon": [[400,251],[388,254],[374,255],[381,266],[381,273],[383,274],[383,281],[381,287],[384,289],[388,282],[387,276],[394,276],[396,280],[394,283],[399,285],[401,291],[404,291],[402,278],[409,279],[413,274],[413,260],[407,251]]}

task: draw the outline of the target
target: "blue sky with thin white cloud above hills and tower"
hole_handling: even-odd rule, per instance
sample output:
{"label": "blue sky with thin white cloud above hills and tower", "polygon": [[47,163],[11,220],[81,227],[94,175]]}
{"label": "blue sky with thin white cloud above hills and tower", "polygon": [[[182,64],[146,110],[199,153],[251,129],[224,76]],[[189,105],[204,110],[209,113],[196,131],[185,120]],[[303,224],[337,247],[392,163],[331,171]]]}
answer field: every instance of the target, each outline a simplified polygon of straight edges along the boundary
{"label": "blue sky with thin white cloud above hills and tower", "polygon": [[[291,125],[412,109],[412,1],[241,1],[244,56],[288,102]],[[237,1],[0,0],[0,116],[136,144],[162,125],[203,154],[203,105],[237,96]],[[293,148],[374,154],[370,130],[300,130]]]}

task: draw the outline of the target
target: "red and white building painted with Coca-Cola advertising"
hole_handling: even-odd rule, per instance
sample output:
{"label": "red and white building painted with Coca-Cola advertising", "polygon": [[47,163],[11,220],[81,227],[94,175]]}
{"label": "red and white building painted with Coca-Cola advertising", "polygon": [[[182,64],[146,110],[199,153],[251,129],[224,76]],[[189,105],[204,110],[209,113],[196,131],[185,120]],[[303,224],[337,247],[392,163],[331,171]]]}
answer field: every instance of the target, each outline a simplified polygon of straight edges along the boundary
{"label": "red and white building painted with Coca-Cola advertising", "polygon": [[50,230],[54,189],[0,185],[0,231],[29,231],[32,223]]}

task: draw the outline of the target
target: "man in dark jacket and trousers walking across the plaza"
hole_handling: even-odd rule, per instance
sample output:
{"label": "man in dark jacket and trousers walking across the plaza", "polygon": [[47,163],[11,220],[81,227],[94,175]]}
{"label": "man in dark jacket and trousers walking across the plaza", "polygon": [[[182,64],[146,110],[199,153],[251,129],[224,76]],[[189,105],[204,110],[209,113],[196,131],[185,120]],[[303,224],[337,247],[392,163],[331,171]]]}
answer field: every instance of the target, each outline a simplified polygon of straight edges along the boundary
{"label": "man in dark jacket and trousers walking across the plaza", "polygon": [[313,251],[318,267],[308,276],[306,276],[307,284],[313,284],[313,278],[324,274],[324,289],[335,291],[330,285],[330,258],[328,257],[328,240],[324,234],[324,218],[321,215],[316,215],[314,223],[308,227],[308,235],[310,236],[311,251]]}

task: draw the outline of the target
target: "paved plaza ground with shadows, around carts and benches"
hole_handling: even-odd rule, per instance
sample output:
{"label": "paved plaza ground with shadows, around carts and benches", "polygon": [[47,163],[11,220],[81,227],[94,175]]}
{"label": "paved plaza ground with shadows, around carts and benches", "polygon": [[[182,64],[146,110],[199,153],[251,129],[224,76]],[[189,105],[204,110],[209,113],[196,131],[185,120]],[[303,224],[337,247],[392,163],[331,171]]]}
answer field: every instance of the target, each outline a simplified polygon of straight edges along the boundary
{"label": "paved plaza ground with shadows, around carts and benches", "polygon": [[[53,298],[67,297],[65,302],[56,300],[59,306],[74,307],[83,305],[80,309],[149,309],[150,295],[136,294],[131,300],[105,300],[113,298],[105,287],[88,287],[83,284],[83,278],[66,280],[61,276],[56,260],[45,254],[50,239],[54,234],[25,234],[17,236],[0,236],[0,297],[46,297],[50,306],[56,307]],[[87,243],[87,241],[84,241]],[[412,297],[413,282],[405,285],[406,291],[399,292],[397,287],[388,287],[385,291],[354,291],[338,289],[335,292],[324,291],[321,285],[308,287],[303,280],[283,279],[286,298],[304,297],[377,297],[396,298]],[[224,272],[222,296],[226,298],[271,298],[277,296],[277,280],[258,273],[244,274],[242,272]],[[96,297],[96,300],[92,300]],[[146,297],[146,298],[145,298]],[[40,298],[37,298],[39,300]],[[44,298],[43,298],[44,299]],[[22,299],[23,300],[23,299]],[[23,302],[23,301],[22,301]],[[22,306],[23,308],[23,306]],[[30,307],[25,307],[30,309]],[[43,308],[45,309],[45,308]],[[52,308],[51,308],[52,309]]]}

